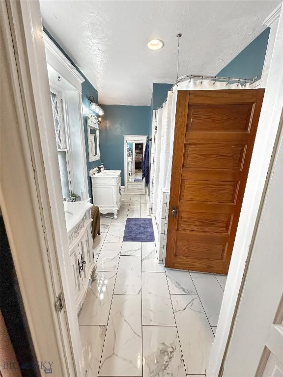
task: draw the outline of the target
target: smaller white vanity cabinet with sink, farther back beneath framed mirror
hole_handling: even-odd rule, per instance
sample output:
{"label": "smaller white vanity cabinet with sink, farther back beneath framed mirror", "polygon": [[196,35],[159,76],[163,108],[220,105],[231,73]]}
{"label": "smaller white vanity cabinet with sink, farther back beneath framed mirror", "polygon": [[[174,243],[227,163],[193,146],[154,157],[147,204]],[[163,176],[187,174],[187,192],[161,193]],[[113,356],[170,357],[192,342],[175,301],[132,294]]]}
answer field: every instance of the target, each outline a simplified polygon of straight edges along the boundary
{"label": "smaller white vanity cabinet with sink, farther back beneath framed mirror", "polygon": [[117,213],[121,204],[121,170],[90,170],[93,204],[102,214]]}

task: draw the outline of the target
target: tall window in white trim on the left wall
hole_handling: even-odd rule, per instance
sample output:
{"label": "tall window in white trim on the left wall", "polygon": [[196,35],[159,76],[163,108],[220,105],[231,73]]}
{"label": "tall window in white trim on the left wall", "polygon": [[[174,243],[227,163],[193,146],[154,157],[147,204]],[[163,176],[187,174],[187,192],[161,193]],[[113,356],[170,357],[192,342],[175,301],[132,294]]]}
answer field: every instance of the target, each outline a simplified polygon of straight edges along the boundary
{"label": "tall window in white trim on the left wall", "polygon": [[69,170],[69,150],[67,148],[67,133],[66,125],[64,122],[63,116],[63,100],[61,93],[52,89],[50,92],[53,119],[54,119],[54,128],[56,134],[57,142],[57,153],[58,153],[58,162],[61,178],[61,187],[63,196],[66,198],[70,197],[71,191],[71,181],[70,181],[70,170]]}

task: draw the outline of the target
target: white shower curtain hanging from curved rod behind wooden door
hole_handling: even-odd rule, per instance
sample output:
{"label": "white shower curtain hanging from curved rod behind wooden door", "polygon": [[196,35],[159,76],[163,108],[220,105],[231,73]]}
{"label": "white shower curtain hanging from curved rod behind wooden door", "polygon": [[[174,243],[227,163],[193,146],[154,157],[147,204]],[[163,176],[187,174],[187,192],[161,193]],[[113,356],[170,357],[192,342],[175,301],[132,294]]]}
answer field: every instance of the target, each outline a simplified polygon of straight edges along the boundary
{"label": "white shower curtain hanging from curved rod behind wooden door", "polygon": [[[158,109],[157,113],[157,153],[155,153],[155,181],[153,192],[153,215],[156,216],[157,223],[159,223],[162,213],[162,190],[164,188],[170,188],[171,182],[178,90],[223,90],[246,88],[249,88],[249,85],[241,86],[238,85],[238,83],[227,85],[226,82],[192,79],[178,83],[178,85],[173,87],[173,92],[168,92],[167,103],[163,106],[163,109]],[[160,138],[159,141],[158,138]]]}

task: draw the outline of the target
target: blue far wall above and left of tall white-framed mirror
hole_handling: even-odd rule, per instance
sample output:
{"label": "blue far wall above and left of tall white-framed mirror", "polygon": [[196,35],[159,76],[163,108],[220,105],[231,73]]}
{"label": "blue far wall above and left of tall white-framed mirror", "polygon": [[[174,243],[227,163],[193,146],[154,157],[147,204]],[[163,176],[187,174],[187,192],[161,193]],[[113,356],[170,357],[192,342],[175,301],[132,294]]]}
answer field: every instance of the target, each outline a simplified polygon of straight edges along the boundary
{"label": "blue far wall above and left of tall white-framed mirror", "polygon": [[124,135],[148,135],[149,106],[102,105],[100,157],[106,169],[122,170],[124,186]]}

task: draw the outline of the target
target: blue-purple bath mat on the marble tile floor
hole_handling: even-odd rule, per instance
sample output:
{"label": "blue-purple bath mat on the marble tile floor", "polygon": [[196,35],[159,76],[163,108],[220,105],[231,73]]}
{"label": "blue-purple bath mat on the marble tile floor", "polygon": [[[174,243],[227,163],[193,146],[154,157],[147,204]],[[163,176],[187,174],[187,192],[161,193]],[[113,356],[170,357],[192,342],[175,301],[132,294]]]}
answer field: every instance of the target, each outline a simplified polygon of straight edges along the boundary
{"label": "blue-purple bath mat on the marble tile floor", "polygon": [[151,218],[127,218],[123,241],[153,242],[154,233]]}

